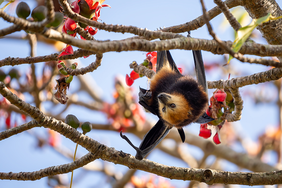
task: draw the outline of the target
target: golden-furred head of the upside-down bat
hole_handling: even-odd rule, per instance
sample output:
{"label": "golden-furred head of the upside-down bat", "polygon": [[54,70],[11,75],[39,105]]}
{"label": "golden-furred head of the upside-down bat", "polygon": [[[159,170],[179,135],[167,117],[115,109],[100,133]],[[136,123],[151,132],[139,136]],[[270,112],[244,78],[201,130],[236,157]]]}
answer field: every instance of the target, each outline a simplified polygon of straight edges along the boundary
{"label": "golden-furred head of the upside-down bat", "polygon": [[158,95],[159,111],[162,119],[171,125],[179,125],[186,119],[191,119],[192,107],[180,93],[160,93]]}

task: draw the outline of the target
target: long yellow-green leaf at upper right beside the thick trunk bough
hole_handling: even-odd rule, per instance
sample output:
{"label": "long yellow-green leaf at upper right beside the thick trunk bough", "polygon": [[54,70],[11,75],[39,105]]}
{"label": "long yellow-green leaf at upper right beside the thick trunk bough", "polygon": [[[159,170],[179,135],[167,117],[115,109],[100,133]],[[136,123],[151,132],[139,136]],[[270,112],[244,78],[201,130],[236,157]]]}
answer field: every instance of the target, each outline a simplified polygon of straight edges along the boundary
{"label": "long yellow-green leaf at upper right beside the thick trunk bough", "polygon": [[[262,23],[265,23],[269,20],[276,20],[279,19],[280,17],[273,17],[270,13],[268,13],[266,16],[263,16],[261,18],[258,19],[253,19],[253,21],[245,27],[240,28],[237,31],[237,39],[235,39],[235,41],[232,44],[232,50],[236,53],[238,53],[241,49],[241,47],[243,46],[244,42],[246,42],[246,40],[248,39],[248,37],[251,35],[251,33],[254,31],[254,29],[261,25]],[[229,55],[229,59],[227,64],[230,62],[230,60],[232,59],[232,55]]]}

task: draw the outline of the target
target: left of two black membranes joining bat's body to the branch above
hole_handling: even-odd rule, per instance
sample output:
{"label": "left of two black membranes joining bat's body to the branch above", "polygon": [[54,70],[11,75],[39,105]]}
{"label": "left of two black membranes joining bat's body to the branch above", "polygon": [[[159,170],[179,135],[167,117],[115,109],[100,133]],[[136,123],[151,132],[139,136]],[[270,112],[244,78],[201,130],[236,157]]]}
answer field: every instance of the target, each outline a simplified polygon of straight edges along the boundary
{"label": "left of two black membranes joining bat's body to the branch above", "polygon": [[172,59],[172,56],[169,52],[169,50],[163,50],[163,51],[159,51],[157,53],[157,67],[156,67],[156,72],[158,72],[159,70],[161,70],[161,68],[163,66],[169,65],[169,67],[175,71],[175,73],[181,74],[174,62],[174,60]]}

